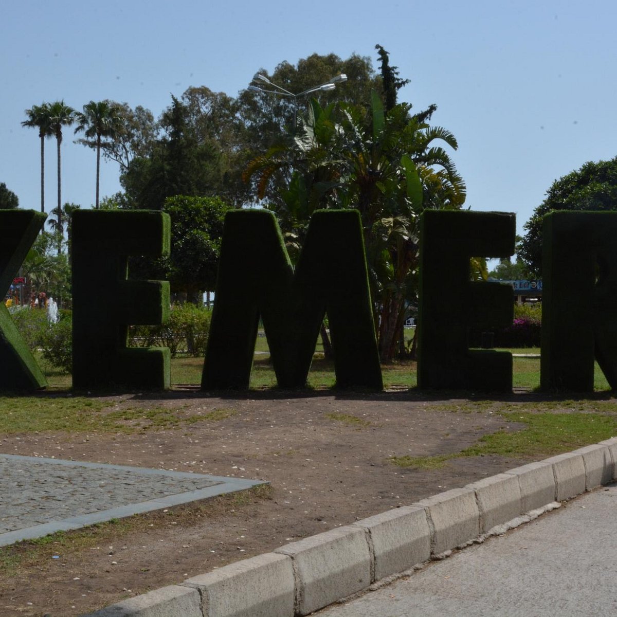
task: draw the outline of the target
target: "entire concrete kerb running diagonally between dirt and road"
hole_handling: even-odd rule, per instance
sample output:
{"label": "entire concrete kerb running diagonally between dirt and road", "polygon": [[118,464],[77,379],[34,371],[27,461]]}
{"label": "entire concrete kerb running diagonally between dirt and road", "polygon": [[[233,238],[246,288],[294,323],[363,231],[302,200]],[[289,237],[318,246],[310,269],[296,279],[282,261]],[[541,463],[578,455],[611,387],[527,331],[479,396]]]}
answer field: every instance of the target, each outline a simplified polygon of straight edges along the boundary
{"label": "entire concrete kerb running diagonally between dirt and road", "polygon": [[[85,617],[294,617],[617,479],[617,437],[237,561]],[[532,516],[529,516],[529,515]]]}

